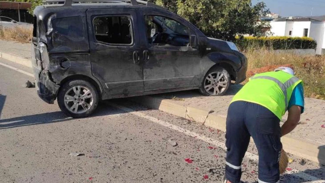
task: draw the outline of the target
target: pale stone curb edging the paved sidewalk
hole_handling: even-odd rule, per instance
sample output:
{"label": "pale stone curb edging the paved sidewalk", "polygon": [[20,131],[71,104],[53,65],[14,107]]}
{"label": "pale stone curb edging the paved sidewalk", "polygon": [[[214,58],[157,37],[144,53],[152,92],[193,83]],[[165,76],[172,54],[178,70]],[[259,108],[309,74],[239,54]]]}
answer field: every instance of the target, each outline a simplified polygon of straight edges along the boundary
{"label": "pale stone curb edging the paved sidewalk", "polygon": [[[32,68],[31,60],[21,58],[14,54],[0,52],[0,57]],[[132,97],[130,100],[153,109],[158,109],[175,116],[202,123],[206,126],[216,128],[224,132],[226,131],[226,116],[215,114],[213,111],[207,111],[190,106],[186,107],[177,104],[171,99],[152,96]],[[282,137],[281,142],[283,149],[287,152],[320,164],[325,164],[325,146],[323,144],[314,143],[307,140],[298,140],[290,135]]]}

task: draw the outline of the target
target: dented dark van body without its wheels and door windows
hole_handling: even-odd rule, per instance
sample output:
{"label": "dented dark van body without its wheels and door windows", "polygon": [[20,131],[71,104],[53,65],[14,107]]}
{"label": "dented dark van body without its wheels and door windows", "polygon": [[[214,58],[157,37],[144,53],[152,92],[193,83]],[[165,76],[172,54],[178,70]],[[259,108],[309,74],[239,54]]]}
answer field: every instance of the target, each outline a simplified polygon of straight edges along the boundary
{"label": "dented dark van body without its wheels and door windows", "polygon": [[[130,21],[130,44],[108,44],[96,37],[109,32],[101,30],[99,35],[94,19],[116,15]],[[186,26],[188,46],[149,44],[145,15],[166,17]],[[246,79],[244,55],[157,6],[39,6],[34,19],[32,65],[37,93],[47,103],[54,103],[61,85],[78,78],[96,86],[101,99],[197,89],[214,66],[224,67],[236,83]],[[121,24],[121,18],[119,21]]]}

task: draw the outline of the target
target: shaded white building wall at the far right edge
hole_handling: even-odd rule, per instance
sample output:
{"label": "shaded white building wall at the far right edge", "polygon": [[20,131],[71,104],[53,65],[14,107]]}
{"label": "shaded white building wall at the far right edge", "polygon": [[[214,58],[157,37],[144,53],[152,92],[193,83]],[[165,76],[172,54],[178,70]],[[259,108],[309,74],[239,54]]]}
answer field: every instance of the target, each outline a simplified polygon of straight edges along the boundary
{"label": "shaded white building wall at the far right edge", "polygon": [[316,54],[322,54],[324,22],[311,22],[309,37],[317,42]]}

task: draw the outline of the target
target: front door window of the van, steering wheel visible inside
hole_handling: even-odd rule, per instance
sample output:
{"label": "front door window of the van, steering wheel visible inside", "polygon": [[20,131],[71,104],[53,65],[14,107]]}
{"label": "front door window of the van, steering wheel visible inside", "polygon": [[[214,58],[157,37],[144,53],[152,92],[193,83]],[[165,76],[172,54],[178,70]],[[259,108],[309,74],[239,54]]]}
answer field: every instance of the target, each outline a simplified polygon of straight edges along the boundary
{"label": "front door window of the van, steering wheel visible inside", "polygon": [[167,17],[145,15],[148,43],[154,46],[189,46],[189,29]]}

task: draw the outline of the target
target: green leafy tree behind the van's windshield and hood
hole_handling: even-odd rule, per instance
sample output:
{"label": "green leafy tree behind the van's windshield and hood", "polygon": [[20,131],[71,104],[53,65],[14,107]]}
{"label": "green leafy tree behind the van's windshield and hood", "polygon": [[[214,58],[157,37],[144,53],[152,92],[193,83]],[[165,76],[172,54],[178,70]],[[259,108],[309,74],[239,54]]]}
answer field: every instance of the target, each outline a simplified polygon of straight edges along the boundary
{"label": "green leafy tree behind the van's windshield and hood", "polygon": [[236,35],[263,34],[260,16],[270,11],[264,2],[251,0],[153,0],[197,26],[207,36],[233,41]]}

